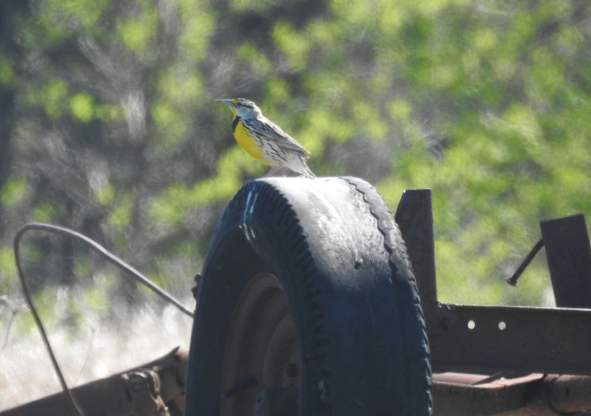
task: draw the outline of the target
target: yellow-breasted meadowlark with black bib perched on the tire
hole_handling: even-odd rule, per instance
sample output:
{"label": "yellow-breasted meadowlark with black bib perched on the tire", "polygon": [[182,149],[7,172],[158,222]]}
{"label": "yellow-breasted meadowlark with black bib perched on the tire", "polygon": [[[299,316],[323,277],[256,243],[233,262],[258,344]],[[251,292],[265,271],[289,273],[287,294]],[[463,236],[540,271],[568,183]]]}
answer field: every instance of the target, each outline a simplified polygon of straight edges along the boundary
{"label": "yellow-breasted meadowlark with black bib perched on the tire", "polygon": [[310,152],[262,115],[254,102],[245,98],[216,101],[232,110],[232,129],[240,147],[259,162],[271,166],[266,176],[286,167],[307,178],[315,177],[306,165]]}

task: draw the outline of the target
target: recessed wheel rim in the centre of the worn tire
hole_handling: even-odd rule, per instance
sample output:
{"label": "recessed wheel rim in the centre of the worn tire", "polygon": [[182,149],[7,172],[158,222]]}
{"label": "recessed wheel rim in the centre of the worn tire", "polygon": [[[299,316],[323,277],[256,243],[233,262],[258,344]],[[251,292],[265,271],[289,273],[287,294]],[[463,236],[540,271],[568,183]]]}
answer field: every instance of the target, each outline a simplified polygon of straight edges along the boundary
{"label": "recessed wheel rim in the centre of the worn tire", "polygon": [[233,311],[222,370],[221,414],[254,415],[262,391],[297,392],[301,363],[287,296],[275,275],[255,275]]}

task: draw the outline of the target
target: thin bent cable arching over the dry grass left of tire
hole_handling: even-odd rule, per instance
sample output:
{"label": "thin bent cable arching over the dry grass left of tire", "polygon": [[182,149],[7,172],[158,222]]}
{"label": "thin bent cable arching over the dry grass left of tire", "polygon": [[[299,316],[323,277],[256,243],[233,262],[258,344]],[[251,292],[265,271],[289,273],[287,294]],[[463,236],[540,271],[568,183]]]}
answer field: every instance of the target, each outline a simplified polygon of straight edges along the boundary
{"label": "thin bent cable arching over the dry grass left of tire", "polygon": [[60,227],[60,226],[56,226],[56,225],[41,224],[41,223],[29,223],[29,224],[25,224],[24,226],[22,226],[18,230],[17,235],[15,235],[15,237],[14,237],[14,257],[15,257],[15,261],[17,263],[18,277],[20,278],[20,281],[21,281],[22,290],[24,292],[25,299],[27,300],[27,304],[31,310],[31,313],[33,314],[33,319],[35,320],[35,323],[37,324],[39,332],[41,333],[41,337],[43,338],[43,342],[45,343],[45,346],[47,348],[47,352],[49,353],[51,363],[53,364],[53,368],[56,371],[57,378],[59,378],[61,388],[66,393],[66,395],[69,396],[72,406],[76,410],[76,412],[78,412],[80,415],[84,415],[84,413],[82,412],[82,409],[77,404],[76,399],[74,399],[74,396],[72,395],[72,391],[70,391],[70,388],[67,386],[66,380],[64,379],[63,374],[61,373],[59,363],[57,363],[57,359],[53,353],[53,349],[51,349],[51,345],[50,345],[49,339],[47,337],[47,333],[45,332],[45,329],[43,327],[43,323],[41,323],[41,318],[39,317],[39,313],[37,312],[37,308],[35,308],[35,305],[33,303],[33,298],[31,298],[28,283],[27,283],[27,280],[25,279],[25,274],[22,271],[19,243],[21,241],[22,235],[24,235],[24,233],[27,232],[28,230],[41,230],[41,231],[53,232],[53,233],[57,233],[57,234],[61,234],[61,235],[74,237],[74,238],[77,238],[77,239],[87,243],[90,246],[90,248],[92,248],[94,251],[98,252],[99,254],[103,255],[103,257],[105,257],[109,262],[128,271],[135,278],[135,280],[137,280],[141,284],[146,285],[155,294],[159,295],[164,300],[167,300],[168,302],[172,303],[174,306],[176,306],[178,308],[178,310],[180,310],[181,312],[183,312],[187,316],[191,317],[191,319],[194,317],[194,315],[190,310],[188,310],[186,307],[184,307],[183,304],[181,304],[178,300],[176,300],[176,298],[174,298],[173,295],[169,294],[167,291],[158,287],[158,285],[155,285],[154,283],[152,283],[147,277],[142,275],[136,269],[134,269],[133,267],[128,265],[126,262],[119,259],[117,256],[111,254],[99,243],[93,241],[92,239],[86,237],[85,235],[82,235],[74,230],[70,230],[68,228],[64,228],[64,227]]}

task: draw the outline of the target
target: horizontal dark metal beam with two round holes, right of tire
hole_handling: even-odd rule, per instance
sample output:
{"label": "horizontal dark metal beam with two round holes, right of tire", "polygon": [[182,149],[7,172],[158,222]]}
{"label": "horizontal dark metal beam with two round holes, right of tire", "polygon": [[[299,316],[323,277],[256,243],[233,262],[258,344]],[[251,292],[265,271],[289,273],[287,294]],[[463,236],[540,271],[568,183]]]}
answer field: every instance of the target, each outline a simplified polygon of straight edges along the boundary
{"label": "horizontal dark metal beam with two round holes, right of tire", "polygon": [[591,311],[443,304],[447,331],[430,333],[434,372],[591,375]]}

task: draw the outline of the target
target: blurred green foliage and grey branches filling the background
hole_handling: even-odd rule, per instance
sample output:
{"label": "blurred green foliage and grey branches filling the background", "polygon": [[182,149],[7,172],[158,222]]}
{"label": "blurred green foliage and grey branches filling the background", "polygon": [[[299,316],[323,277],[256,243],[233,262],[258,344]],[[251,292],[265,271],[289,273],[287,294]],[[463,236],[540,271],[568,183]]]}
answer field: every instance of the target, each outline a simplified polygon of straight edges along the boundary
{"label": "blurred green foliage and grey branches filling the background", "polygon": [[[392,209],[404,189],[433,188],[443,300],[544,302],[543,258],[519,290],[503,278],[540,219],[591,212],[585,0],[17,3],[0,17],[0,105],[14,103],[0,143],[3,293],[29,220],[85,233],[188,293],[223,206],[264,173],[216,98],[255,100],[317,174],[363,177]],[[35,288],[92,275],[92,259],[73,260],[85,253],[37,236]],[[105,299],[141,297],[106,286]]]}

